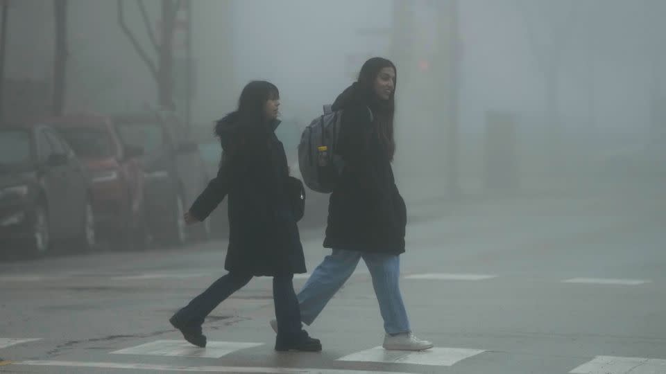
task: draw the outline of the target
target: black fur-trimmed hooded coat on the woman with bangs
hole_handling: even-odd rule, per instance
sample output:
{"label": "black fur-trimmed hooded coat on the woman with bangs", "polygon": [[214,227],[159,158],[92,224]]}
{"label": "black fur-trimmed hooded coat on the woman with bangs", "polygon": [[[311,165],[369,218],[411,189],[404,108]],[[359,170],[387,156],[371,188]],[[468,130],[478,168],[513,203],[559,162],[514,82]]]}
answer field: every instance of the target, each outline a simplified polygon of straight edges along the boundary
{"label": "black fur-trimmed hooded coat on the woman with bangs", "polygon": [[[238,141],[234,116],[217,125],[223,148]],[[271,124],[262,141],[221,162],[212,179],[190,208],[204,220],[229,196],[229,247],[225,269],[253,276],[305,273],[298,226],[290,207],[289,169],[282,143]]]}

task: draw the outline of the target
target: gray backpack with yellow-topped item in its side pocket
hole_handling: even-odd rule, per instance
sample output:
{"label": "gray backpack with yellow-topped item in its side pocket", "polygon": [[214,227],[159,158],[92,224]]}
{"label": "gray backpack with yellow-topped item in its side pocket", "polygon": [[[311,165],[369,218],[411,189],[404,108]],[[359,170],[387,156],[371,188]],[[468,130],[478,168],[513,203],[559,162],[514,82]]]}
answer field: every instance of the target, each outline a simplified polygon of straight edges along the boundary
{"label": "gray backpack with yellow-topped item in its side pocket", "polygon": [[[370,120],[373,112],[370,111]],[[311,190],[332,193],[344,162],[335,153],[340,136],[342,111],[333,112],[324,105],[324,114],[305,127],[298,144],[298,167],[300,174]]]}

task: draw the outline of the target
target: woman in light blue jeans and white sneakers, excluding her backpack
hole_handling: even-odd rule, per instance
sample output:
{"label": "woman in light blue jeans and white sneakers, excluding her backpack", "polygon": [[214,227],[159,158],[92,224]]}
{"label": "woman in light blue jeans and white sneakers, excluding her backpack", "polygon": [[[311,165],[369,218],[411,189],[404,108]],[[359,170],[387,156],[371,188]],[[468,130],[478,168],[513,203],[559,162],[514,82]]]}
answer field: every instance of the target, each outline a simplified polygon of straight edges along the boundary
{"label": "woman in light blue jeans and white sneakers, excluding her backpack", "polygon": [[[344,165],[330,197],[324,240],[332,254],[312,272],[298,303],[301,321],[309,325],[363,258],[384,319],[384,348],[426,350],[433,345],[411,332],[398,285],[407,209],[391,169],[395,82],[393,62],[372,58],[332,106],[342,113],[333,152]],[[280,331],[279,323],[271,326]]]}

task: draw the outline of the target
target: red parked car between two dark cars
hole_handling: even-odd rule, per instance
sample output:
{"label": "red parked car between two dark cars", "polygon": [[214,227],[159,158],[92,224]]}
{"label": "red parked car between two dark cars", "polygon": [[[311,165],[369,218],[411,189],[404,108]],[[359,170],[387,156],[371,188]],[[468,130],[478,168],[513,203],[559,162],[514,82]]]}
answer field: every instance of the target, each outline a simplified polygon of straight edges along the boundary
{"label": "red parked car between two dark cars", "polygon": [[92,203],[101,235],[123,248],[148,241],[141,148],[123,145],[111,118],[67,114],[45,121],[67,140],[92,175]]}

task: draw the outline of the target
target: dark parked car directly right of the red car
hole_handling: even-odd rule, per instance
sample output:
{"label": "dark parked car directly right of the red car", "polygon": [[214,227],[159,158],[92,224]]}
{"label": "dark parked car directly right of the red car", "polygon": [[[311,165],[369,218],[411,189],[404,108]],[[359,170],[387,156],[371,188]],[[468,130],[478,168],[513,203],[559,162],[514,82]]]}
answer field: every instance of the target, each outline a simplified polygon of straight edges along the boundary
{"label": "dark parked car directly right of the red car", "polygon": [[177,116],[143,112],[114,116],[125,145],[142,148],[148,225],[155,239],[182,245],[208,238],[210,224],[187,227],[183,214],[208,182],[198,147]]}

